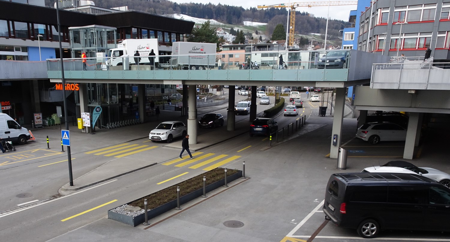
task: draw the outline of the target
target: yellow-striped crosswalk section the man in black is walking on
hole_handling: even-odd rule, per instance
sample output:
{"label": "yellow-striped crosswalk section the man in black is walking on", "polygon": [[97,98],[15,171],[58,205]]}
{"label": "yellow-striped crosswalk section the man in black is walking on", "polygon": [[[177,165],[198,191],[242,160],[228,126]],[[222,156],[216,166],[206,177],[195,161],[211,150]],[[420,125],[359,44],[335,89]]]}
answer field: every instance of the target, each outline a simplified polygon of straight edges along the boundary
{"label": "yellow-striped crosswalk section the man in black is walking on", "polygon": [[[215,169],[217,167],[223,166],[226,163],[234,161],[234,160],[236,160],[236,159],[241,157],[241,156],[228,157],[229,155],[224,155],[224,154],[215,156],[216,155],[215,153],[207,153],[207,154],[203,154],[203,155],[202,154],[203,154],[203,152],[193,152],[192,153],[192,156],[194,157],[193,159],[190,159],[189,156],[185,156],[184,158],[181,158],[181,159],[177,158],[175,160],[168,161],[166,163],[163,163],[162,165],[170,166],[170,165],[173,165],[175,163],[180,162],[179,164],[176,164],[175,166],[176,167],[183,167],[183,166],[187,166],[187,165],[190,165],[192,163],[201,161],[198,164],[195,164],[193,166],[189,166],[188,167],[190,169],[197,169],[197,168],[200,168],[202,166],[209,165],[212,162],[218,161],[217,163],[214,163],[211,166],[207,166],[207,167],[203,168],[203,170],[212,170],[212,169]],[[225,158],[225,159],[221,160],[223,158]],[[202,161],[204,159],[207,159],[207,160]],[[219,160],[221,160],[221,161],[219,161]]]}

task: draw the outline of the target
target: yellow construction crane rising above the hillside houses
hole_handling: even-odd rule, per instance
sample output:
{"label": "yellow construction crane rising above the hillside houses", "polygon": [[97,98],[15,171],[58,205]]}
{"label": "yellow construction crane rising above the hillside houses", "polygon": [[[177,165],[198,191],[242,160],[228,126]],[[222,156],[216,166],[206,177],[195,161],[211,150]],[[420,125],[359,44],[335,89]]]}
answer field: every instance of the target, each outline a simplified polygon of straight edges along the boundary
{"label": "yellow construction crane rising above the hillside houses", "polygon": [[[328,1],[328,2],[302,2],[302,3],[281,3],[275,5],[258,5],[258,9],[267,8],[291,8],[290,28],[289,28],[289,42],[288,46],[294,44],[294,32],[295,32],[295,9],[297,7],[317,7],[317,6],[337,6],[337,5],[356,5],[358,1]],[[294,14],[292,14],[294,12]],[[289,18],[289,16],[288,16]]]}

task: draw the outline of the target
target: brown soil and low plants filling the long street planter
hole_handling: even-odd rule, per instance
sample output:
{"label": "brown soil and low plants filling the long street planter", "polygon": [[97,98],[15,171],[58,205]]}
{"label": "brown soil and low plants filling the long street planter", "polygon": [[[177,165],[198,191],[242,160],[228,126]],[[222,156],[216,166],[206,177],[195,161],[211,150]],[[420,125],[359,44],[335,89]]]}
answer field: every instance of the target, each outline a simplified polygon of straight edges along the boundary
{"label": "brown soil and low plants filling the long street planter", "polygon": [[[237,173],[238,170],[227,169],[227,177]],[[162,189],[161,191],[157,191],[156,193],[152,193],[148,196],[139,198],[133,202],[130,202],[130,206],[138,206],[144,207],[144,199],[147,199],[147,207],[148,209],[153,209],[155,207],[166,204],[167,202],[173,201],[176,199],[176,187],[180,186],[180,197],[192,193],[193,191],[197,191],[200,188],[203,188],[203,176],[206,176],[206,185],[215,183],[221,179],[225,178],[225,169],[224,168],[216,168],[210,171],[207,171],[203,174],[195,176],[191,179],[180,182],[179,184],[173,185],[171,187]]]}

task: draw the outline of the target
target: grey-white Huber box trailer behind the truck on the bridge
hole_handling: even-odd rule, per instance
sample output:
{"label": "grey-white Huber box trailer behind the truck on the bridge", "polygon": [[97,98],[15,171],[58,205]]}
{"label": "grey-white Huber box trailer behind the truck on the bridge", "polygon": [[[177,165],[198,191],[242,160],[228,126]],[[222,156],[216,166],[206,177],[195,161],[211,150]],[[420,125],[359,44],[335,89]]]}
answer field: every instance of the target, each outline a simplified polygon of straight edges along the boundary
{"label": "grey-white Huber box trailer behind the truck on the bridge", "polygon": [[172,56],[171,65],[190,70],[212,68],[216,65],[216,46],[215,43],[173,42],[172,55],[186,55]]}

